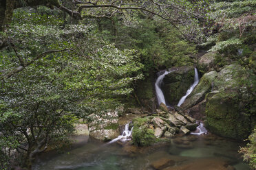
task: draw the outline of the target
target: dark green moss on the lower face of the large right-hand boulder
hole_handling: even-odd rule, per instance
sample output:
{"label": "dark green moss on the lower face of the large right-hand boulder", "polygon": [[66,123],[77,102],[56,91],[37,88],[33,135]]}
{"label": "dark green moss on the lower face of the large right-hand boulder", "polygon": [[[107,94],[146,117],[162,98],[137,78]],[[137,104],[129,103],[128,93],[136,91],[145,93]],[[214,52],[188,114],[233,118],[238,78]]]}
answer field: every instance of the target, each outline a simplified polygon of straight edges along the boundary
{"label": "dark green moss on the lower face of the large right-hand boulder", "polygon": [[206,104],[206,126],[211,132],[229,138],[243,139],[250,133],[250,118],[239,112],[232,93],[217,93]]}

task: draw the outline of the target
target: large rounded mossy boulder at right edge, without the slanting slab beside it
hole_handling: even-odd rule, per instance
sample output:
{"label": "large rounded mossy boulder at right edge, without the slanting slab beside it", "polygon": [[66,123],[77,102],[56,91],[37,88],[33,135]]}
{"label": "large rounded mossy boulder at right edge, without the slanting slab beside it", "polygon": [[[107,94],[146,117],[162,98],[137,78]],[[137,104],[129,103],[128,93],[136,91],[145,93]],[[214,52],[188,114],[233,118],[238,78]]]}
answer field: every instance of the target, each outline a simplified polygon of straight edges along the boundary
{"label": "large rounded mossy boulder at right edge, without the slanting slab beside it", "polygon": [[255,75],[239,64],[225,66],[206,95],[206,126],[221,136],[246,138],[255,125]]}

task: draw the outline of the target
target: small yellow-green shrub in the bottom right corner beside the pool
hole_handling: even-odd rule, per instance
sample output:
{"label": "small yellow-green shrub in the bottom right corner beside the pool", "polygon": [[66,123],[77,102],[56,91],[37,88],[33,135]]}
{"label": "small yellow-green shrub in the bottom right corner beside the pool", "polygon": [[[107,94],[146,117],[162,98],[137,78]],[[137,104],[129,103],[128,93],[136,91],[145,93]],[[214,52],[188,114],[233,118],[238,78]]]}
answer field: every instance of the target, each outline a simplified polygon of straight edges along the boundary
{"label": "small yellow-green shrub in the bottom right corner beside the pool", "polygon": [[244,161],[249,162],[250,166],[256,169],[256,128],[248,137],[248,141],[250,141],[250,143],[248,143],[246,147],[242,147],[239,153],[244,154]]}

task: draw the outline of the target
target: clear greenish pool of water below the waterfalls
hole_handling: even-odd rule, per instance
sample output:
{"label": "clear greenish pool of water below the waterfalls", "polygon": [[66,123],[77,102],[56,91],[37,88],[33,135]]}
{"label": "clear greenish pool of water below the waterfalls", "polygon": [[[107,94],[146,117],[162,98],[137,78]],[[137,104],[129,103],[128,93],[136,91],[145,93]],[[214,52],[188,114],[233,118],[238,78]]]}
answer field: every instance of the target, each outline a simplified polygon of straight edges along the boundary
{"label": "clear greenish pool of water below the waterfalls", "polygon": [[[180,144],[180,141],[184,144]],[[219,158],[228,160],[236,170],[248,170],[249,167],[237,154],[240,143],[229,141],[217,136],[189,135],[173,138],[167,144],[153,147],[129,149],[118,143],[105,145],[99,141],[89,139],[71,149],[58,154],[54,151],[42,154],[36,159],[33,170],[144,170],[152,169],[151,163],[161,158],[171,158],[181,161],[179,165],[189,164],[193,161],[202,162],[204,159]],[[128,148],[128,149],[127,149]],[[175,165],[176,166],[176,165]],[[195,168],[196,169],[196,168]],[[204,170],[207,170],[206,167]],[[209,167],[212,169],[212,167]],[[198,170],[198,169],[197,169]]]}

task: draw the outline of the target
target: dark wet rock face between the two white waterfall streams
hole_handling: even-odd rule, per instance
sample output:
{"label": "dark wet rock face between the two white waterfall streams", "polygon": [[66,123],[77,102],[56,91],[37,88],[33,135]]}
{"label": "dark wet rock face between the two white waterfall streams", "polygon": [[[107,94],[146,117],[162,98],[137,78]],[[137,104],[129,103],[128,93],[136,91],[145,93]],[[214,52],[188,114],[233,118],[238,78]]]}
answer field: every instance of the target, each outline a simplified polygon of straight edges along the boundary
{"label": "dark wet rock face between the two white waterfall streams", "polygon": [[175,69],[178,71],[165,75],[162,84],[164,97],[171,105],[178,104],[180,98],[186,94],[186,90],[194,81],[193,66],[180,66]]}

